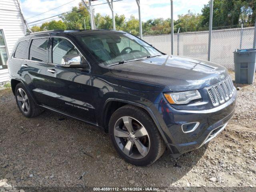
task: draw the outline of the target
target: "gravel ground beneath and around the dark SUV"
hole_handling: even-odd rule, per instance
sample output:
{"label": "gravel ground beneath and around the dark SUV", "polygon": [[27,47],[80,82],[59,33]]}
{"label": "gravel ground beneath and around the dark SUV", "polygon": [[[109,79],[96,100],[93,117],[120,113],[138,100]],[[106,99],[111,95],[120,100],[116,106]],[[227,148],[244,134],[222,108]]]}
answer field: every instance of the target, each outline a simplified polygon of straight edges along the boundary
{"label": "gravel ground beneath and around the dark SUV", "polygon": [[25,118],[11,90],[0,90],[0,192],[26,186],[256,189],[256,84],[235,86],[242,87],[238,108],[218,137],[178,159],[165,152],[148,167],[124,162],[95,126],[47,110]]}

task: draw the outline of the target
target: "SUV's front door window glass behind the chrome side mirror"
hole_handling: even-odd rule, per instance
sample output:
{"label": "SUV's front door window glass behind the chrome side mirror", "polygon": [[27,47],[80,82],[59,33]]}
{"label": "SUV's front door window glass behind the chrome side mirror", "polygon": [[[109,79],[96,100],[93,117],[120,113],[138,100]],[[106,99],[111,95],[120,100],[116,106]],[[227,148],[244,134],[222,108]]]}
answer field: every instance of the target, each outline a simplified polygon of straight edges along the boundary
{"label": "SUV's front door window glass behind the chrome side mirror", "polygon": [[53,38],[52,42],[52,63],[61,64],[62,57],[70,54],[78,54],[78,50],[64,38]]}

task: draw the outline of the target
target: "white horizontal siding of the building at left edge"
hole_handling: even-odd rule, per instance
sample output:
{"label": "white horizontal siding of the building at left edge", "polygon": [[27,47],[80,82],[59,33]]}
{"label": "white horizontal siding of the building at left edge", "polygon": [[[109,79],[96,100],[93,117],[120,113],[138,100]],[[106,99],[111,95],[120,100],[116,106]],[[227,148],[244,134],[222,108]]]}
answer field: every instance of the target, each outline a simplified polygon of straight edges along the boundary
{"label": "white horizontal siding of the building at left edge", "polygon": [[[0,0],[0,29],[4,31],[6,52],[10,55],[16,41],[26,34],[18,0]],[[0,82],[8,80],[8,70],[0,70]]]}

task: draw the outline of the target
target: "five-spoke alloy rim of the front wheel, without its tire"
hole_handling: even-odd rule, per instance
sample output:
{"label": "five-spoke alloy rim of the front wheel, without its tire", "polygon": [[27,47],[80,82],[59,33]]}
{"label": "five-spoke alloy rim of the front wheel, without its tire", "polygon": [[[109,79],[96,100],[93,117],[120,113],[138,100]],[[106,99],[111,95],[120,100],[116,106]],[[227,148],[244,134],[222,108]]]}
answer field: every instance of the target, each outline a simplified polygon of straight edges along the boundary
{"label": "five-spoke alloy rim of the front wheel, without its tire", "polygon": [[142,159],[150,149],[146,128],[135,118],[123,116],[116,121],[114,137],[118,147],[130,158]]}

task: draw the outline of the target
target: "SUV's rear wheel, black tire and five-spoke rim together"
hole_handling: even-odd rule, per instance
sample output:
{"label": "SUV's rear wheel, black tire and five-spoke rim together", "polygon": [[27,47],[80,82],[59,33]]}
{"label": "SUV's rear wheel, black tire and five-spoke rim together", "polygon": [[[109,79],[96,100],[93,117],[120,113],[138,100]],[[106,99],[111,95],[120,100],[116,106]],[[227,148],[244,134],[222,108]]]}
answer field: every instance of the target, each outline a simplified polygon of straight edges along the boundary
{"label": "SUV's rear wheel, black tire and five-spoke rim together", "polygon": [[20,112],[28,118],[41,114],[42,109],[39,108],[22,83],[18,83],[15,87],[16,103]]}

